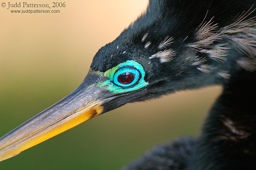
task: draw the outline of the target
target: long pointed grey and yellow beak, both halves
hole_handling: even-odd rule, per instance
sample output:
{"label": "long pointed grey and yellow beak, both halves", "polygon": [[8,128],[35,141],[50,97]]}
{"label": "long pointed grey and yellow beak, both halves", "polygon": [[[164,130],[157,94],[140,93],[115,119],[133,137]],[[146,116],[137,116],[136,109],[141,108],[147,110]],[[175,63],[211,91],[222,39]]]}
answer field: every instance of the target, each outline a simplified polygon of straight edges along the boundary
{"label": "long pointed grey and yellow beak, both halves", "polygon": [[0,161],[106,112],[103,104],[115,96],[96,86],[97,79],[86,76],[71,94],[0,138]]}

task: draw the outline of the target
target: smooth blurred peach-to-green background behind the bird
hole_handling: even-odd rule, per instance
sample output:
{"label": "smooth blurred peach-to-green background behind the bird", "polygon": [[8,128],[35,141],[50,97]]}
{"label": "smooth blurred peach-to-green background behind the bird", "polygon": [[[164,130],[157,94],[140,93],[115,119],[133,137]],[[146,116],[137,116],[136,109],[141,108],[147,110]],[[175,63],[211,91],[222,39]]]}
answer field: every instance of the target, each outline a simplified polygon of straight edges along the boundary
{"label": "smooth blurred peach-to-green background behind the bird", "polygon": [[[145,11],[148,0],[65,4],[58,14],[12,14],[0,6],[0,136],[73,91],[97,50]],[[127,104],[0,162],[0,169],[118,170],[158,143],[198,135],[220,91],[208,87]]]}

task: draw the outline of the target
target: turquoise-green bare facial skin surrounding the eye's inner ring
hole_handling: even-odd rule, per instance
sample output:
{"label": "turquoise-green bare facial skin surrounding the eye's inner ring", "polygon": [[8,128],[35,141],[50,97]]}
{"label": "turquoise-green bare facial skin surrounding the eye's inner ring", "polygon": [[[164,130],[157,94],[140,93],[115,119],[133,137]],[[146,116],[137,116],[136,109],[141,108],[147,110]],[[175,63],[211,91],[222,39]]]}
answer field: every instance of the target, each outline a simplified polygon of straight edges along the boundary
{"label": "turquoise-green bare facial skin surrounding the eye's inner ring", "polygon": [[[121,86],[118,86],[115,83],[113,83],[113,76],[115,75],[116,70],[118,70],[119,68],[122,68],[124,66],[132,66],[140,72],[141,78],[138,80],[138,83],[135,86],[132,86],[130,88],[129,87],[121,87]],[[98,74],[98,73],[94,73],[94,74]],[[108,80],[106,80],[104,82],[99,82],[99,83],[97,83],[96,86],[106,88],[108,91],[111,91],[113,93],[124,93],[127,91],[135,91],[140,88],[146,87],[148,85],[148,83],[145,82],[145,80],[144,80],[144,76],[145,76],[145,71],[139,63],[137,63],[133,60],[127,60],[126,62],[120,63],[119,65],[107,70],[104,73],[104,77],[107,77]]]}

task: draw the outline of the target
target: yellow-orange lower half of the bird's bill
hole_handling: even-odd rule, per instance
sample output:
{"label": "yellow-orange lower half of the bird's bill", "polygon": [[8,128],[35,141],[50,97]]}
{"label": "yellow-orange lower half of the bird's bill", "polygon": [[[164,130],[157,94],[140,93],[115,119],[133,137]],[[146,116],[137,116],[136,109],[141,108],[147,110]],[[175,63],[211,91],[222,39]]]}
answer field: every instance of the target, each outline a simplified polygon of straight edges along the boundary
{"label": "yellow-orange lower half of the bird's bill", "polygon": [[24,133],[24,138],[19,138],[16,142],[11,143],[4,148],[0,146],[0,161],[16,156],[30,147],[88,121],[89,119],[101,114],[103,109],[104,107],[101,105],[101,102],[97,102],[88,107],[73,111],[69,116],[61,120],[57,120],[54,124],[49,125],[42,130],[38,130],[29,136],[26,136],[26,133]]}

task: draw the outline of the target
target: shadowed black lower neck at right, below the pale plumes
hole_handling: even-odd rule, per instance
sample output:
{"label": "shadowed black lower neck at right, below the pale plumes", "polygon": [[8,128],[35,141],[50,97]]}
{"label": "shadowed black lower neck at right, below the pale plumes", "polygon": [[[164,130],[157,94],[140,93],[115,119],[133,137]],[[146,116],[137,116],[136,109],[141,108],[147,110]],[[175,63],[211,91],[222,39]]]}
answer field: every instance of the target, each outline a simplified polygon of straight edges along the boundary
{"label": "shadowed black lower neck at right, below the pale plumes", "polygon": [[256,169],[256,73],[224,85],[198,138],[189,170]]}

